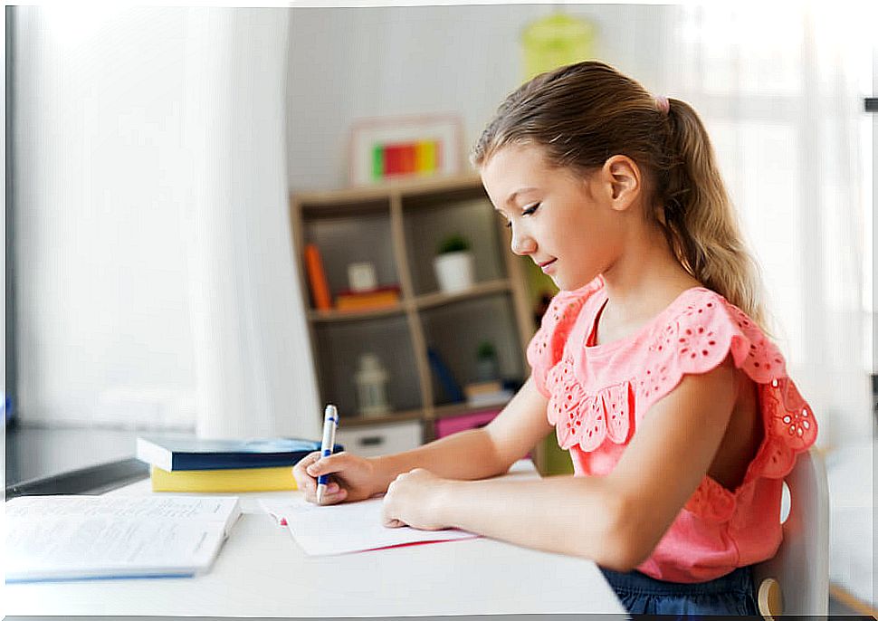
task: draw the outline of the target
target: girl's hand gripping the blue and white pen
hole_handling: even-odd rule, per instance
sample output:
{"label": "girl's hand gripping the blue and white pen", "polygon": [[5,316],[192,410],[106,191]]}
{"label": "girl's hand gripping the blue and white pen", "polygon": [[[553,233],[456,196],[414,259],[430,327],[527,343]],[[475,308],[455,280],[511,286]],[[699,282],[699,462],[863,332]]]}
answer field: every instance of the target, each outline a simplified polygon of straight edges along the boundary
{"label": "girl's hand gripping the blue and white pen", "polygon": [[376,489],[375,466],[371,460],[344,451],[321,458],[320,451],[315,451],[292,469],[306,501],[317,504],[317,477],[321,474],[331,475],[323,504],[363,501],[381,492]]}

